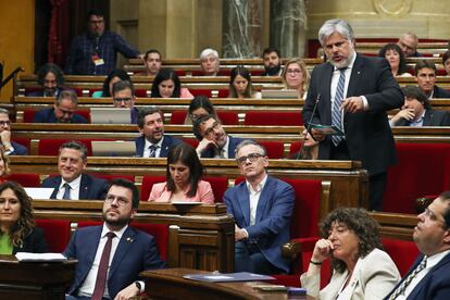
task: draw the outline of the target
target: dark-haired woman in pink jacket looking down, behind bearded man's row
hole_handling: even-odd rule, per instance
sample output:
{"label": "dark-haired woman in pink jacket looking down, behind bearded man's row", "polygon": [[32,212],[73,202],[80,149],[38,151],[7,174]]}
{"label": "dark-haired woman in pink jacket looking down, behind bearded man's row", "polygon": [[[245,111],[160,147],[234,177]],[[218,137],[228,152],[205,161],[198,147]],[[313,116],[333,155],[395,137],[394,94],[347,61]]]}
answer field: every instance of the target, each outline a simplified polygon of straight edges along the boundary
{"label": "dark-haired woman in pink jacket looking down, behind bearded man's row", "polygon": [[196,149],[182,142],[168,149],[165,183],[153,185],[149,201],[214,203],[210,183],[201,180],[203,165]]}

